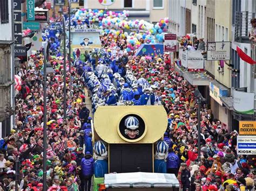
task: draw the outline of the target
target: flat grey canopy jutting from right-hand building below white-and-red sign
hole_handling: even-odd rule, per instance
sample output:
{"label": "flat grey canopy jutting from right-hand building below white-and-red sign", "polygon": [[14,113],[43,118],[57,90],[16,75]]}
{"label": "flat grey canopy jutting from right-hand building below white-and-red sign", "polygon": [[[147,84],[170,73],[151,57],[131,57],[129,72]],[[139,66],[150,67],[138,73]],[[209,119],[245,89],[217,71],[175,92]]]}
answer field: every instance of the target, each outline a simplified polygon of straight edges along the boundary
{"label": "flat grey canopy jutting from right-hand building below white-and-red sign", "polygon": [[176,70],[193,86],[209,86],[211,81],[211,77],[205,72],[186,72],[178,66],[176,66]]}

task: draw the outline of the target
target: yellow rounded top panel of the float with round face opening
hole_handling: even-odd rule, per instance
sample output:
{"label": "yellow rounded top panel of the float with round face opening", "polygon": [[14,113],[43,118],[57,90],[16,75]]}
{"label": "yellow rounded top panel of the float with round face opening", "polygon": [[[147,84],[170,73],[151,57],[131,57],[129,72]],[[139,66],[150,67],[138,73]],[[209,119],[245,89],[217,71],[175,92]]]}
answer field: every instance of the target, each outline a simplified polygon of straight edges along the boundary
{"label": "yellow rounded top panel of the float with round face opening", "polygon": [[[125,120],[130,116],[138,119],[138,127],[129,130]],[[97,108],[93,122],[95,137],[109,144],[155,143],[168,124],[162,105],[102,106]]]}

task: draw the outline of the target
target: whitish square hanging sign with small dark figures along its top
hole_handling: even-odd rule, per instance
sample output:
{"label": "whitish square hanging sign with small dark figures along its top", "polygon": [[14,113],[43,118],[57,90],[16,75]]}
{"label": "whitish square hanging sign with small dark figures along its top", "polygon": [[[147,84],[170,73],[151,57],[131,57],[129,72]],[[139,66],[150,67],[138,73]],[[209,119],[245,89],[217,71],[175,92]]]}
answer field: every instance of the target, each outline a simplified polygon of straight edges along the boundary
{"label": "whitish square hanging sign with small dark figures along its top", "polygon": [[207,60],[230,60],[231,42],[208,42]]}

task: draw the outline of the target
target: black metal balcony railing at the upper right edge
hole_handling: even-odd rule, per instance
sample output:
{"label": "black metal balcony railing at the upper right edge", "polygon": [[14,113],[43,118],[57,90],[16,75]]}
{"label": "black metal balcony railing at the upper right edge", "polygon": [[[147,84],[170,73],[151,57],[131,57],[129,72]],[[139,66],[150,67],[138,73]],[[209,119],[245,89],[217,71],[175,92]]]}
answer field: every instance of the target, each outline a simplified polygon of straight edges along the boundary
{"label": "black metal balcony railing at the upper right edge", "polygon": [[251,43],[249,36],[252,30],[251,19],[255,13],[248,11],[235,12],[235,33],[234,40],[239,43]]}

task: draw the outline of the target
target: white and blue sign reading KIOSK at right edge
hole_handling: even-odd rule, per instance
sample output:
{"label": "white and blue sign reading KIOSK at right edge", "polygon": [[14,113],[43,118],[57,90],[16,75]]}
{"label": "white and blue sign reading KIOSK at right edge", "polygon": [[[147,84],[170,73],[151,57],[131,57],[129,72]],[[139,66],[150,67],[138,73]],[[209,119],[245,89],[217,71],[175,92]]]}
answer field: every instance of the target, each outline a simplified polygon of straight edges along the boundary
{"label": "white and blue sign reading KIOSK at right edge", "polygon": [[256,154],[256,136],[237,136],[237,154]]}

